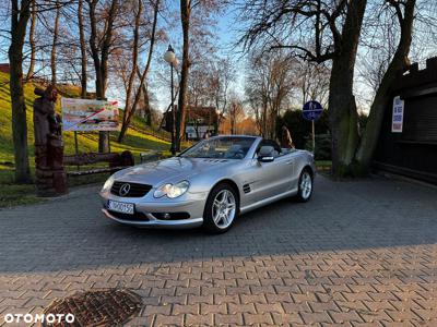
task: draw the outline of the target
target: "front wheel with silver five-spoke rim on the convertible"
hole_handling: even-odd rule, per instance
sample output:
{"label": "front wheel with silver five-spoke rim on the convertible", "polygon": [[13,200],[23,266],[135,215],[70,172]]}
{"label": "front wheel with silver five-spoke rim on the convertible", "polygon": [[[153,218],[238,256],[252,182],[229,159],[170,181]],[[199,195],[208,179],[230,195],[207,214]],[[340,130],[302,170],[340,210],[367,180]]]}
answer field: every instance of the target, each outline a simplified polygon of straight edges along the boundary
{"label": "front wheel with silver five-spoke rim on the convertible", "polygon": [[216,185],[208,196],[203,228],[214,234],[231,229],[238,216],[239,199],[233,186],[226,183]]}

